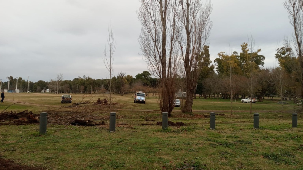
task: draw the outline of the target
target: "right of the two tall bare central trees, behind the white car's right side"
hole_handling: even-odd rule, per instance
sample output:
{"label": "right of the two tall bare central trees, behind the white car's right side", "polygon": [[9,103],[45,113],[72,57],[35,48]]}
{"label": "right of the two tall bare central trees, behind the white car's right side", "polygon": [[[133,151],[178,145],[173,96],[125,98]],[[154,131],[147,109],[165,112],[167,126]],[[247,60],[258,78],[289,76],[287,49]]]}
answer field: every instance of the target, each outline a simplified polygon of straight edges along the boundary
{"label": "right of the two tall bare central trees, behind the white car's right side", "polygon": [[[193,95],[197,88],[198,76],[201,72],[201,55],[207,43],[212,22],[210,14],[213,9],[211,2],[202,5],[200,0],[179,0],[180,12],[178,19],[184,26],[185,36],[178,38],[186,74],[186,101],[183,112],[191,112]],[[183,46],[186,48],[183,50]]]}

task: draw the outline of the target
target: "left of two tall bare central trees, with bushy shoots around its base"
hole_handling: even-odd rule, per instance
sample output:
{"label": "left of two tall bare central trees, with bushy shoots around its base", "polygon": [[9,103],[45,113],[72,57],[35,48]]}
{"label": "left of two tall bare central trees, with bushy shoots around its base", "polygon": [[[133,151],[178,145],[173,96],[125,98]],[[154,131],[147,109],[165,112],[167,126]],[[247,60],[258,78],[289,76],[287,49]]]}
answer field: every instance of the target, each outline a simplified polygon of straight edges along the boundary
{"label": "left of two tall bare central trees, with bushy shoots around its base", "polygon": [[138,19],[142,29],[139,37],[140,50],[152,75],[160,79],[161,93],[158,104],[162,112],[174,108],[175,79],[178,66],[176,42],[180,34],[177,20],[178,2],[170,0],[139,0]]}

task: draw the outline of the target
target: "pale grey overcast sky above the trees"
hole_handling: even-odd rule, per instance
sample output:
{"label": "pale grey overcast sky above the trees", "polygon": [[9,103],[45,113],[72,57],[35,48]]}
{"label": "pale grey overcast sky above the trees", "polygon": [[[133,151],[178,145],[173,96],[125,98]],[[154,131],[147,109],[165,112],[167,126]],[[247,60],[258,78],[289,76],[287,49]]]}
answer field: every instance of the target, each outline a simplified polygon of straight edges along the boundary
{"label": "pale grey overcast sky above the trees", "polygon": [[[212,0],[212,62],[229,44],[240,53],[252,34],[265,67],[275,66],[276,49],[293,32],[283,1]],[[0,79],[29,75],[33,82],[49,81],[59,73],[67,80],[108,78],[102,57],[111,21],[114,75],[123,71],[135,77],[147,70],[139,55],[139,6],[138,0],[0,0]]]}

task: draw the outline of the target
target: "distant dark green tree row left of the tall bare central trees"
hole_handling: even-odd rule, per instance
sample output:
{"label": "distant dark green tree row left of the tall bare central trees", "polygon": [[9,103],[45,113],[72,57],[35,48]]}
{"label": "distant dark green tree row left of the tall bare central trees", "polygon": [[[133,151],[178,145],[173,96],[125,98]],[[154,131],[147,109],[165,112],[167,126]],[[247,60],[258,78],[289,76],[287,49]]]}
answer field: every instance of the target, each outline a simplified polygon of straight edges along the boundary
{"label": "distant dark green tree row left of the tall bare central trees", "polygon": [[[82,77],[75,78],[73,80],[64,80],[62,74],[58,74],[55,79],[48,82],[39,80],[37,82],[22,79],[18,79],[9,76],[9,89],[15,90],[16,85],[20,91],[41,92],[49,89],[52,93],[105,93],[109,90],[109,79],[93,79],[89,76],[83,75]],[[148,90],[156,88],[157,79],[152,78],[148,71],[143,71],[137,74],[135,77],[131,75],[125,75],[124,72],[118,73],[117,76],[113,76],[112,79],[112,93],[125,94],[131,91]],[[17,84],[18,83],[18,84]],[[28,87],[29,84],[29,87]],[[2,89],[8,88],[8,81],[2,82]],[[148,90],[151,91],[151,90]]]}

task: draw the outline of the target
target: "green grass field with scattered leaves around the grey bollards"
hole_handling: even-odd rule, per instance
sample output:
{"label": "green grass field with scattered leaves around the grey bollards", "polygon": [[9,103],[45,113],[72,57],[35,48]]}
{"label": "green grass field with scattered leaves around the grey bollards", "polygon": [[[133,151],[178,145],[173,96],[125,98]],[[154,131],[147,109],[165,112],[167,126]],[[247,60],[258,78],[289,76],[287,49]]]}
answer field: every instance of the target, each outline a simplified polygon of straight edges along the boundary
{"label": "green grass field with scattered leaves around the grey bollards", "polygon": [[[0,111],[65,111],[55,94],[5,94]],[[75,95],[73,103],[96,101],[105,96]],[[297,104],[283,106],[276,100],[252,104],[260,113],[260,128],[253,128],[250,104],[224,99],[195,99],[193,113],[175,108],[169,120],[184,127],[162,130],[156,98],[135,104],[131,95],[113,96],[120,103],[116,131],[104,125],[48,125],[39,135],[39,125],[0,126],[0,156],[23,165],[44,169],[303,169],[303,116],[291,127],[291,113]],[[91,106],[98,107],[98,106]],[[216,130],[209,129],[209,112],[216,115]],[[109,113],[108,113],[109,115]],[[206,118],[205,118],[206,117]]]}

